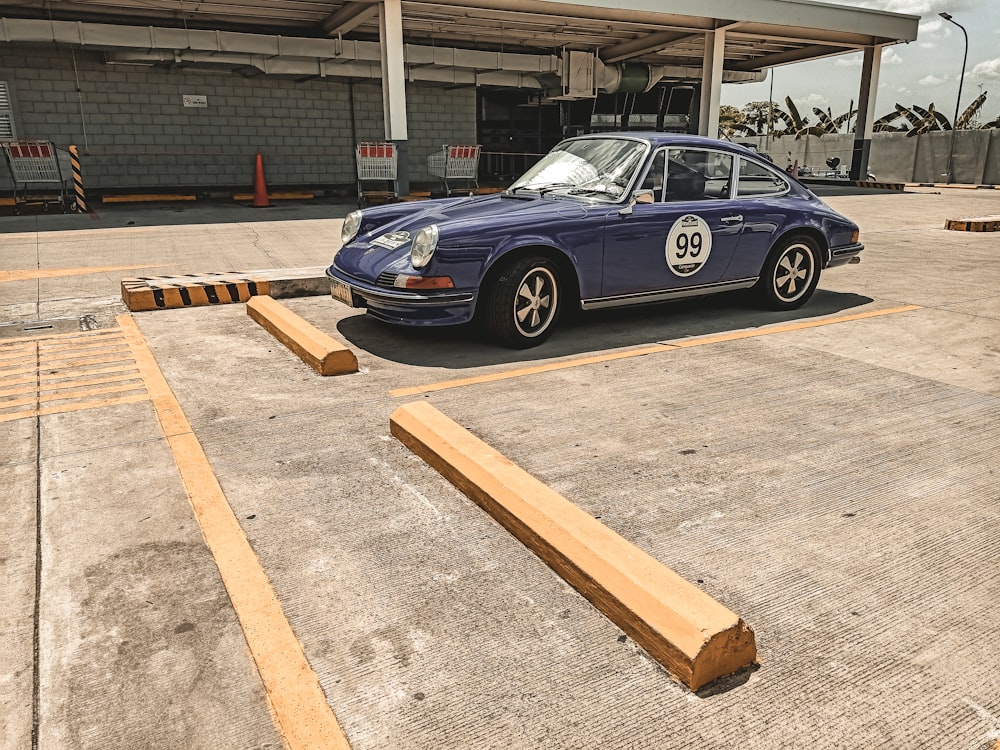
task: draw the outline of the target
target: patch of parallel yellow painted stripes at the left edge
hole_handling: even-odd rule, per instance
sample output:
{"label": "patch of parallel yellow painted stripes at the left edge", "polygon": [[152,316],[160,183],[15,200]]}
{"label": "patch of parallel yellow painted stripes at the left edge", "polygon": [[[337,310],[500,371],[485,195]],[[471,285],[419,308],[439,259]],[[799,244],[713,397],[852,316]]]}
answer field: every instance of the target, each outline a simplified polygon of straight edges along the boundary
{"label": "patch of parallel yellow painted stripes at the left edge", "polygon": [[[103,367],[108,364],[115,366]],[[0,422],[148,398],[120,331],[47,334],[0,342]]]}

